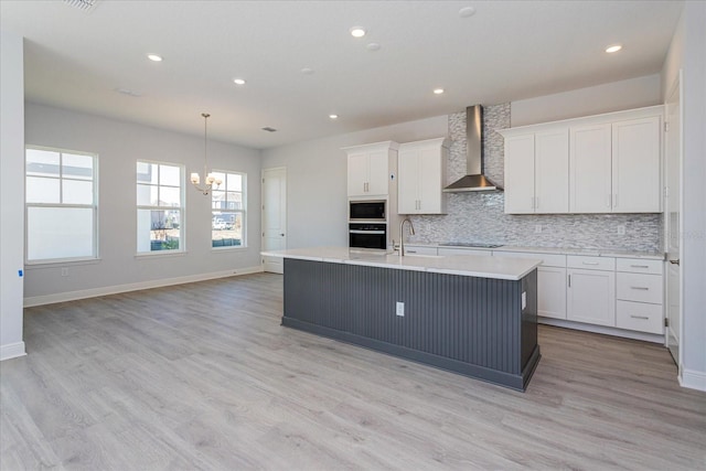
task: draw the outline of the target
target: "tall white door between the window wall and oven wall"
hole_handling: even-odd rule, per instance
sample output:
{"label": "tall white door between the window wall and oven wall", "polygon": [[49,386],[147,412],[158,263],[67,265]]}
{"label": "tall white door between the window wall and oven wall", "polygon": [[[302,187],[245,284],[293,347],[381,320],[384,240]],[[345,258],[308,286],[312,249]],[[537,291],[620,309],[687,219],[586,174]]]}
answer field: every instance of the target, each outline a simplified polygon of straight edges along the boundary
{"label": "tall white door between the window wall and oven wall", "polygon": [[[263,250],[287,248],[287,169],[263,170]],[[282,274],[282,258],[263,257],[265,271]]]}

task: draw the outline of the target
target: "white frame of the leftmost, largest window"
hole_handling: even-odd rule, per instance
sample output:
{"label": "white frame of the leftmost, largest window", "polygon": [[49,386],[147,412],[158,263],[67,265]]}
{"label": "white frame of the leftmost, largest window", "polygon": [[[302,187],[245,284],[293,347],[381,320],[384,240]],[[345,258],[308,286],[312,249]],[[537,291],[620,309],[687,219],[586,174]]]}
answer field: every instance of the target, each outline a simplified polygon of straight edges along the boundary
{"label": "white frame of the leftmost, largest window", "polygon": [[[60,189],[60,202],[58,203],[28,203],[26,201],[26,179],[28,179],[28,170],[26,170],[26,158],[28,158],[28,150],[40,150],[40,151],[46,151],[46,152],[57,152],[60,154],[60,161],[58,161],[58,176],[57,178],[53,178],[53,176],[40,176],[40,178],[45,178],[45,179],[53,179],[53,180],[57,180],[60,182],[58,189]],[[64,181],[64,176],[63,176],[63,154],[72,154],[72,156],[86,156],[86,157],[90,157],[93,159],[93,175],[90,179],[92,182],[92,190],[93,190],[93,202],[92,204],[77,204],[77,203],[62,203],[61,200],[63,199],[63,181]],[[72,150],[72,149],[64,149],[64,148],[58,148],[58,147],[49,147],[49,146],[35,146],[35,144],[25,144],[24,146],[24,188],[23,188],[23,194],[22,196],[24,197],[24,264],[28,266],[39,266],[39,265],[54,265],[54,264],[67,264],[67,263],[93,263],[93,261],[97,261],[99,260],[99,254],[100,254],[100,246],[99,246],[99,242],[100,242],[100,237],[99,237],[99,232],[98,232],[98,207],[99,207],[99,201],[98,201],[98,153],[97,152],[88,152],[88,151],[83,151],[83,150]],[[76,179],[66,179],[66,180],[76,180]],[[86,180],[81,180],[81,181],[86,181]],[[36,259],[30,259],[30,254],[29,254],[29,237],[30,237],[30,207],[46,207],[46,208],[90,208],[93,212],[93,231],[92,231],[92,255],[89,256],[82,256],[82,257],[61,257],[61,258],[36,258]]]}

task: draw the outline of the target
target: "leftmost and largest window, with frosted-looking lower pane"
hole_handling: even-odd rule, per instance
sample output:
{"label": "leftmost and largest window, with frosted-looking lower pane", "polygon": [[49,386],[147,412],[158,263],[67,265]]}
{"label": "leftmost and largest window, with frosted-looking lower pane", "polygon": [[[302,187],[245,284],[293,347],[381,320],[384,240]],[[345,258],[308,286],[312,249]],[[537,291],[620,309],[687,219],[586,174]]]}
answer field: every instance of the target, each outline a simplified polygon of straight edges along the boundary
{"label": "leftmost and largest window, with frosted-looking lower pane", "polygon": [[97,156],[28,147],[26,261],[98,257]]}

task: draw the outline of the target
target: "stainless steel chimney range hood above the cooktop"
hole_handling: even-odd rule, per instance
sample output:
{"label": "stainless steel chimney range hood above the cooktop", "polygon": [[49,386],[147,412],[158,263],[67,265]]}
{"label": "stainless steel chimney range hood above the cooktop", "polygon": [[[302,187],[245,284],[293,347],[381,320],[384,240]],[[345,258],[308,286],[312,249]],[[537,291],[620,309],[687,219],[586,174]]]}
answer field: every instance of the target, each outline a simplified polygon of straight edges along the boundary
{"label": "stainless steel chimney range hood above the cooktop", "polygon": [[464,191],[491,191],[502,190],[485,175],[483,175],[483,107],[480,105],[466,108],[466,176],[451,183],[446,189],[447,193]]}

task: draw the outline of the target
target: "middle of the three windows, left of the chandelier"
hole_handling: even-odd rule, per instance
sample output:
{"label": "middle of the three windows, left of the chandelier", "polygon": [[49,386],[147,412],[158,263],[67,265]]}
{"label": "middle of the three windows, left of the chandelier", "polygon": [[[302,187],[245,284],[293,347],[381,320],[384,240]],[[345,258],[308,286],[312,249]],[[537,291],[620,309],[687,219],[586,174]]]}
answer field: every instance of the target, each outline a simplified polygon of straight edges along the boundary
{"label": "middle of the three windows, left of the chandelier", "polygon": [[137,162],[137,251],[183,251],[183,171],[179,165]]}

